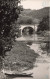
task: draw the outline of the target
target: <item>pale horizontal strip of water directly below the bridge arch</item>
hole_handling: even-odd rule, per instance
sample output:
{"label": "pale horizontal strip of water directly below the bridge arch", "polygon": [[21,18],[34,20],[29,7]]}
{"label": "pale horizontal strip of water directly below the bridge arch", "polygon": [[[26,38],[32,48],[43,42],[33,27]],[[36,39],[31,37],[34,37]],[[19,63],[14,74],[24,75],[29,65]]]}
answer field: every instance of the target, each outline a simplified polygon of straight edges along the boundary
{"label": "pale horizontal strip of water directly below the bridge arch", "polygon": [[33,35],[28,35],[28,36],[21,36],[21,37],[19,37],[19,38],[16,38],[16,40],[17,41],[34,41],[34,42],[36,42],[36,41],[44,41],[43,40],[44,39],[44,37],[42,37],[42,36],[39,36],[39,35],[37,35],[37,34],[33,34]]}

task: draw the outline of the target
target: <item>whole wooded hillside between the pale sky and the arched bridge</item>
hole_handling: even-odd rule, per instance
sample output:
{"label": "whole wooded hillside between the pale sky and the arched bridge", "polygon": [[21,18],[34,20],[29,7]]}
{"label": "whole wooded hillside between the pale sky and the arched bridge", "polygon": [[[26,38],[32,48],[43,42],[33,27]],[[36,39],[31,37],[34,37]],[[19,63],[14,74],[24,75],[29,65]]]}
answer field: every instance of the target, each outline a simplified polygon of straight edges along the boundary
{"label": "whole wooded hillside between the pale sky and the arched bridge", "polygon": [[20,14],[19,21],[27,23],[27,20],[31,19],[32,22],[39,23],[43,17],[49,15],[49,9],[50,7],[45,7],[39,10],[24,9]]}

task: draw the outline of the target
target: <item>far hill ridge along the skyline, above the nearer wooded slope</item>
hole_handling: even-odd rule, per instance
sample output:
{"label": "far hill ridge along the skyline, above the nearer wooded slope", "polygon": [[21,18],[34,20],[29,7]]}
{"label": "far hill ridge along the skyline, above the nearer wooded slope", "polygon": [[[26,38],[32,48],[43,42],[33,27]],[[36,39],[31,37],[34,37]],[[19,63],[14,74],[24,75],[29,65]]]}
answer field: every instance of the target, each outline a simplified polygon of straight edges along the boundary
{"label": "far hill ridge along the skyline, above the nearer wooded slope", "polygon": [[31,10],[31,9],[25,9],[23,10],[23,12],[21,13],[22,15],[28,15],[28,16],[32,16],[33,18],[37,18],[37,19],[41,19],[44,16],[49,15],[49,8],[50,7],[45,7],[39,10]]}

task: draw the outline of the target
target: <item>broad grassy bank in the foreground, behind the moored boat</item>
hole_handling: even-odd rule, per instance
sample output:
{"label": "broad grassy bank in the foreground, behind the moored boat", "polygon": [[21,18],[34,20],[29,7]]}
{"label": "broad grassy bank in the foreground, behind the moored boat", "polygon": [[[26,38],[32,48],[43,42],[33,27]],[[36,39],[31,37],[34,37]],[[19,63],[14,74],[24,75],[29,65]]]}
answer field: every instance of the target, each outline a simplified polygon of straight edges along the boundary
{"label": "broad grassy bank in the foreground, behind the moored boat", "polygon": [[26,46],[25,42],[15,42],[10,52],[6,53],[5,67],[12,70],[22,70],[33,68],[38,54]]}

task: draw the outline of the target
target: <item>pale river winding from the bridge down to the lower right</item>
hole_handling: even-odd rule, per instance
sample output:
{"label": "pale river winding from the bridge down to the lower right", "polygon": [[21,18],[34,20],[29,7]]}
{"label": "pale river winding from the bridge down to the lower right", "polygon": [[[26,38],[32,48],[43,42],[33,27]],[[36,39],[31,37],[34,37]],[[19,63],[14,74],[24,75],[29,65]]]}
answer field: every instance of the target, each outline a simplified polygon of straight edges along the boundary
{"label": "pale river winding from the bridge down to the lower right", "polygon": [[31,70],[24,71],[25,73],[33,73],[32,79],[50,79],[50,57],[47,55],[46,50],[41,49],[41,44],[43,44],[43,46],[46,44],[46,42],[44,42],[43,39],[44,37],[38,36],[37,34],[26,37],[22,36],[16,39],[17,41],[32,41],[32,43],[28,43],[27,46],[29,46],[31,50],[34,50],[35,53],[39,54],[39,57],[36,58],[35,67]]}

